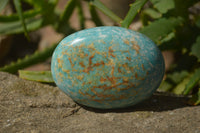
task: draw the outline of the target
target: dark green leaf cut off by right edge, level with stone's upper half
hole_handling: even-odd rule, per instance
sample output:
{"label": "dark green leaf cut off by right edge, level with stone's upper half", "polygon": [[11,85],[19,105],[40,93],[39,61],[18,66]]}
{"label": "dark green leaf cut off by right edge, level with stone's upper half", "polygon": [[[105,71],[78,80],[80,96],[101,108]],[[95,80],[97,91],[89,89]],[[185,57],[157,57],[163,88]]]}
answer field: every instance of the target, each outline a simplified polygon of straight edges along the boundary
{"label": "dark green leaf cut off by right edge, level with stone's upper half", "polygon": [[196,56],[200,62],[200,36],[197,37],[195,44],[192,45],[191,54]]}

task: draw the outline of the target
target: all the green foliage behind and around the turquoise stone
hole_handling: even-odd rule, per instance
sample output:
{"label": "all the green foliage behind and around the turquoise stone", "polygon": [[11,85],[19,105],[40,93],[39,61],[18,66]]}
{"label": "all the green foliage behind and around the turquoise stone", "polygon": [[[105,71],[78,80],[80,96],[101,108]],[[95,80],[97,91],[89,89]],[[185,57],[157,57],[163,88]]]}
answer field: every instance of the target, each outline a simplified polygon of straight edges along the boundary
{"label": "all the green foliage behind and around the turquoise stone", "polygon": [[[198,4],[198,0],[136,0],[130,4],[125,18],[118,17],[100,0],[86,1],[96,26],[104,25],[96,10],[100,10],[124,28],[129,28],[135,16],[139,14],[143,24],[139,32],[151,38],[162,51],[170,50],[175,55],[175,62],[166,72],[160,90],[192,95],[189,103],[200,104],[200,15],[190,10]],[[8,2],[1,0],[0,11]],[[23,11],[21,3],[28,3],[32,8]],[[75,32],[68,22],[75,8],[78,9],[80,27],[85,28],[81,0],[69,0],[62,12],[56,10],[57,3],[58,0],[14,0],[17,12],[9,16],[0,16],[0,35],[24,33],[28,37],[28,32],[52,25],[57,32],[66,36]],[[19,69],[43,62],[52,55],[55,47],[56,44],[0,70],[16,73]],[[41,81],[38,78],[42,72],[20,71],[19,74],[23,78]],[[44,74],[49,77],[47,79],[51,79],[48,72]]]}

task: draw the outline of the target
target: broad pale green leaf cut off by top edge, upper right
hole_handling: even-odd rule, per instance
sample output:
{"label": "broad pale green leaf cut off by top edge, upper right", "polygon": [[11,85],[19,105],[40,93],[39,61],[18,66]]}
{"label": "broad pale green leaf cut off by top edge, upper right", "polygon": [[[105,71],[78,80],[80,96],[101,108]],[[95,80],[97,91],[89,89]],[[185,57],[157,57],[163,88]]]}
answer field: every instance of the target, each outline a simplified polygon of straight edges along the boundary
{"label": "broad pale green leaf cut off by top edge, upper right", "polygon": [[160,13],[166,13],[168,10],[175,8],[174,0],[151,0],[151,2]]}

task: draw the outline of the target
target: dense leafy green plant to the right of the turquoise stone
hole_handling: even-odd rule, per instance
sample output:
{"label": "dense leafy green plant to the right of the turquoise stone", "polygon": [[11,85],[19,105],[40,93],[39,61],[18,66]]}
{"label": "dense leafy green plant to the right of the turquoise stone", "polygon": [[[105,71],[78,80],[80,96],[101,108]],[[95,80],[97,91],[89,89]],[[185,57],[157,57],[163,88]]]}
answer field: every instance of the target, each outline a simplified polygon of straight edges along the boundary
{"label": "dense leafy green plant to the right of the turquoise stone", "polygon": [[[161,50],[175,53],[175,63],[160,86],[175,94],[192,94],[190,104],[200,102],[200,30],[199,14],[189,11],[198,1],[150,0],[152,5],[142,12],[141,32],[154,40]],[[147,19],[148,18],[148,19]]]}

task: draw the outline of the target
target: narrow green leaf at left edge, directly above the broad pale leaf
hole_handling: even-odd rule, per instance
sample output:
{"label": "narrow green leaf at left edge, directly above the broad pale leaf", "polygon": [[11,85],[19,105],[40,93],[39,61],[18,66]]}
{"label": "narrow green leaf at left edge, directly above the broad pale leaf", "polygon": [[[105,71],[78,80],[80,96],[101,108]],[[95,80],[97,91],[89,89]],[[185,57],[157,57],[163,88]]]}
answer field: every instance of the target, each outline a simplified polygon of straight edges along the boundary
{"label": "narrow green leaf at left edge, directly above the broad pale leaf", "polygon": [[[34,10],[28,10],[23,12],[24,19],[34,17],[36,15],[41,14],[41,9],[34,9]],[[14,22],[19,20],[19,15],[18,14],[11,14],[8,16],[0,16],[0,22],[5,23],[5,22]]]}

